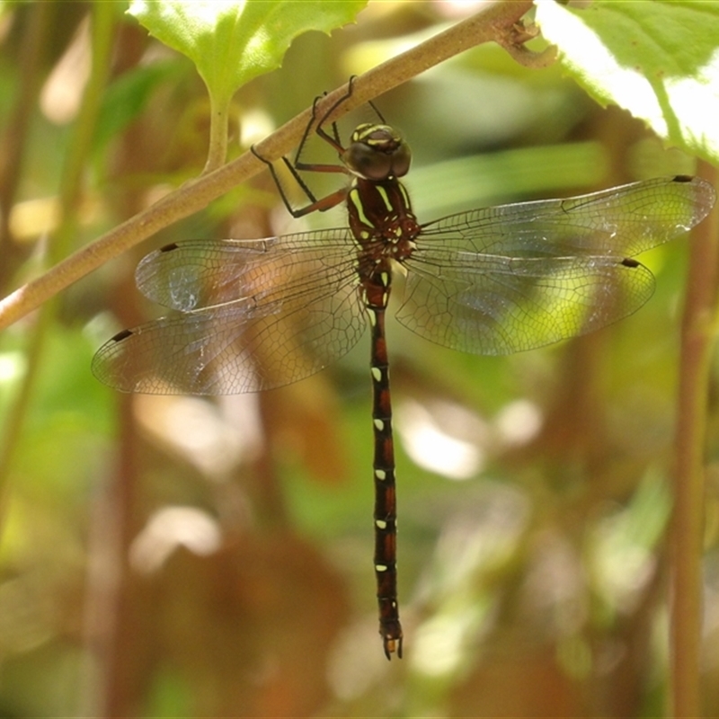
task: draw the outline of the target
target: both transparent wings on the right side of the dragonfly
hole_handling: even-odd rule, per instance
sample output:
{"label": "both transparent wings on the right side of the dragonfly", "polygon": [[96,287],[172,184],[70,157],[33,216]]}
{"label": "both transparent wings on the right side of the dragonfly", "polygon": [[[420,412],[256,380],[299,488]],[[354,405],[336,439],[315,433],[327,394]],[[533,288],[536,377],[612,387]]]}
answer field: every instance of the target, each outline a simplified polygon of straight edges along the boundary
{"label": "both transparent wings on the right side of the dragonfly", "polygon": [[654,280],[631,260],[715,203],[697,178],[658,178],[568,200],[478,209],[422,227],[398,320],[431,342],[509,354],[631,315]]}

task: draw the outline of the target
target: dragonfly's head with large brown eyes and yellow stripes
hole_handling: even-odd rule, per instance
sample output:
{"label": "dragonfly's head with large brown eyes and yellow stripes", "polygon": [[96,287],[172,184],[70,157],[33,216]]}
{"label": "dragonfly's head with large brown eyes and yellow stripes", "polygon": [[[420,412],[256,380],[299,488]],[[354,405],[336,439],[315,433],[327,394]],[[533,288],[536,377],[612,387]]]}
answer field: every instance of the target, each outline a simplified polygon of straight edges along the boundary
{"label": "dragonfly's head with large brown eyes and yellow stripes", "polygon": [[390,177],[403,177],[410,169],[412,152],[389,125],[366,123],[354,130],[350,146],[341,157],[351,173],[381,182]]}

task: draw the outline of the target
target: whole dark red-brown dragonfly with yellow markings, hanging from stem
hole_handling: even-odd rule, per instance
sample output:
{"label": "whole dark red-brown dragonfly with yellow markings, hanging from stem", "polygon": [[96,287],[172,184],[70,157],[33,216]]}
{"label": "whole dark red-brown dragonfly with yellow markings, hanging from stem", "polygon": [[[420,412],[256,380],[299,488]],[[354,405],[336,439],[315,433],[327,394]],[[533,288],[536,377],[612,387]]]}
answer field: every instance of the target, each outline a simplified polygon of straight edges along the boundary
{"label": "whole dark red-brown dragonfly with yellow markings, hanging from stem", "polygon": [[[282,158],[307,195],[305,208],[293,209],[272,164],[255,155],[269,165],[295,217],[344,202],[347,225],[173,242],[149,253],[138,264],[138,289],[174,312],[117,333],[92,369],[122,392],[259,392],[326,368],[368,327],[379,634],[387,659],[401,658],[385,332],[396,273],[405,276],[396,318],[413,333],[475,354],[527,351],[593,332],[644,305],[654,278],[635,256],[697,225],[716,194],[709,182],[678,175],[421,223],[401,181],[412,156],[404,138],[377,113],[379,121],[360,124],[345,146],[336,124],[327,123],[339,102],[321,117],[313,111],[294,163]],[[339,164],[300,162],[312,128]],[[351,182],[318,200],[301,180],[305,170],[344,173]]]}

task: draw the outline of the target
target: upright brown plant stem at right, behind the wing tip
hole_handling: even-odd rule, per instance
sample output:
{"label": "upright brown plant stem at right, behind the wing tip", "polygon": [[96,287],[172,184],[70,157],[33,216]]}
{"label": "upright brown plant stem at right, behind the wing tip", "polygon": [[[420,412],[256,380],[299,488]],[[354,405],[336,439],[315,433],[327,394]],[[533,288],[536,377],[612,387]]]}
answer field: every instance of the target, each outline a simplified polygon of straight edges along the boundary
{"label": "upright brown plant stem at right, behind the wing tip", "polygon": [[[699,174],[714,184],[719,178],[719,173],[706,163],[700,164]],[[717,268],[719,212],[715,209],[694,233],[681,327],[677,459],[670,536],[671,715],[676,717],[701,715],[704,452]]]}

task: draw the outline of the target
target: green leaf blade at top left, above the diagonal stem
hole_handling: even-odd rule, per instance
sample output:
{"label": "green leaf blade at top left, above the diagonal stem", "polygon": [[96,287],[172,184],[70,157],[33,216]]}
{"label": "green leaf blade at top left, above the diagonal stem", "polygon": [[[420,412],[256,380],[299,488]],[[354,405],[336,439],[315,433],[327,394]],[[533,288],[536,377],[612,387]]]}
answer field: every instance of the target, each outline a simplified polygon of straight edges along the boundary
{"label": "green leaf blade at top left, above the diagonal stem", "polygon": [[134,0],[129,13],[194,62],[218,103],[280,67],[297,35],[353,22],[367,0]]}

